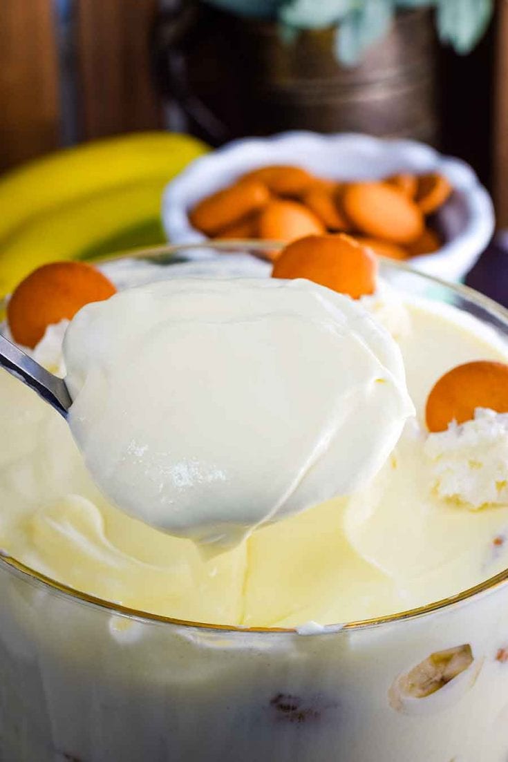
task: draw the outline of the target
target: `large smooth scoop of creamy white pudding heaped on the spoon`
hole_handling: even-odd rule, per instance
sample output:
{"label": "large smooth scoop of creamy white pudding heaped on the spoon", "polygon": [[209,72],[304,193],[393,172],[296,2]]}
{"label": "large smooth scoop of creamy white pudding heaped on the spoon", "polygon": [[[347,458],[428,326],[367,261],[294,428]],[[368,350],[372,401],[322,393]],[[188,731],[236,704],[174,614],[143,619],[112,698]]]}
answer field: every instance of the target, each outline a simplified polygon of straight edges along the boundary
{"label": "large smooth scoop of creamy white pudding heaped on the spoon", "polygon": [[307,280],[168,280],[85,306],[72,433],[134,517],[227,547],[371,479],[413,414],[391,335]]}

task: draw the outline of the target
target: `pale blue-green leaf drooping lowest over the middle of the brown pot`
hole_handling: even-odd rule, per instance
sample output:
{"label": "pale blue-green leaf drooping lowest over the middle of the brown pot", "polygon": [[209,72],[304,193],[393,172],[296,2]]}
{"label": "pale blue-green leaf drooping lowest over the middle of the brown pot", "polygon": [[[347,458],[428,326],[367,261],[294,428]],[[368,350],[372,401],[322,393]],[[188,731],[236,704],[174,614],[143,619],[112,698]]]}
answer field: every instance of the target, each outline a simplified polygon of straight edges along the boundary
{"label": "pale blue-green leaf drooping lowest over the middle of the brown pot", "polygon": [[355,66],[369,46],[384,37],[394,18],[391,0],[365,0],[350,12],[336,32],[336,55],[345,66]]}

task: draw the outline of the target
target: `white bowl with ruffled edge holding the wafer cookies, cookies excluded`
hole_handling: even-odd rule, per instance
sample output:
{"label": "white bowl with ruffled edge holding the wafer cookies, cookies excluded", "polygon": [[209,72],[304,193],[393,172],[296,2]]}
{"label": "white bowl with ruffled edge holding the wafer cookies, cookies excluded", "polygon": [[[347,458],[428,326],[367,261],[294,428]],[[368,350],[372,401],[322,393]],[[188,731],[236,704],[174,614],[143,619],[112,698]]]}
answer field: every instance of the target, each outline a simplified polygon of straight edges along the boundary
{"label": "white bowl with ruffled edge holding the wafer cookies, cookies excluded", "polygon": [[445,243],[435,254],[410,260],[412,267],[429,275],[461,280],[494,232],[492,200],[461,159],[444,156],[415,140],[299,131],[235,140],[191,162],[164,192],[162,222],[169,241],[206,241],[206,236],[191,226],[188,211],[198,200],[227,186],[240,174],[268,164],[301,165],[335,180],[383,178],[404,171],[445,174],[454,187],[452,196],[436,214]]}

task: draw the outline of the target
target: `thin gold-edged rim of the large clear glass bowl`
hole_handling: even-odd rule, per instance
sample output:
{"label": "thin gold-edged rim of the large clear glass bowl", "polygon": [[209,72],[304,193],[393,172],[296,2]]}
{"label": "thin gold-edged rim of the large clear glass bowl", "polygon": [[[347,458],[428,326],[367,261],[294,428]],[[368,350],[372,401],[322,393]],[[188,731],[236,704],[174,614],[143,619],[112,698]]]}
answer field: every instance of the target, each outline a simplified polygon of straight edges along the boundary
{"label": "thin gold-edged rim of the large clear glass bowl", "polygon": [[[263,251],[270,251],[273,249],[281,248],[283,244],[277,241],[251,241],[251,240],[227,240],[227,241],[209,241],[203,243],[193,244],[168,244],[162,246],[154,246],[150,248],[138,248],[128,251],[117,252],[114,255],[107,255],[101,257],[99,260],[95,260],[97,264],[105,264],[108,261],[117,261],[125,258],[141,258],[141,259],[158,259],[168,258],[169,256],[175,256],[178,254],[185,255],[187,251],[191,251],[197,248],[213,249],[217,252],[238,252],[238,253],[252,253],[254,255],[260,254]],[[381,273],[383,271],[402,271],[410,274],[410,277],[415,277],[421,282],[428,285],[434,284],[437,287],[445,288],[446,290],[455,293],[463,299],[467,299],[468,302],[474,303],[479,306],[485,312],[494,315],[498,322],[502,322],[506,326],[508,333],[508,309],[494,302],[494,299],[490,299],[481,293],[478,293],[474,289],[464,286],[461,283],[449,283],[448,281],[441,280],[440,278],[426,275],[420,271],[414,270],[410,265],[404,262],[398,262],[391,259],[379,258],[381,262]],[[0,299],[0,307],[2,306],[2,299]],[[204,622],[192,622],[188,620],[179,620],[170,616],[162,616],[156,613],[150,613],[142,610],[132,609],[130,607],[121,606],[121,604],[115,604],[108,600],[89,595],[82,591],[70,588],[68,585],[57,582],[46,575],[40,574],[40,572],[22,564],[10,555],[5,554],[0,550],[0,569],[7,573],[23,579],[31,584],[42,586],[46,590],[53,592],[54,594],[60,594],[64,597],[70,597],[75,602],[81,602],[92,607],[98,607],[101,610],[105,610],[110,614],[116,614],[118,616],[126,616],[133,620],[138,620],[144,623],[162,623],[167,626],[188,627],[200,630],[211,630],[214,632],[228,632],[231,635],[243,636],[246,633],[259,633],[264,636],[274,636],[281,633],[297,633],[297,628],[282,628],[282,627],[241,627],[228,624],[210,624]],[[359,629],[368,629],[372,627],[383,626],[391,623],[400,623],[407,620],[413,620],[421,616],[426,616],[431,613],[436,613],[444,609],[457,606],[462,603],[471,603],[475,598],[481,594],[493,593],[497,588],[504,586],[508,583],[508,568],[501,571],[494,577],[490,577],[480,584],[474,585],[472,588],[468,588],[465,591],[461,591],[453,596],[443,598],[442,600],[433,601],[425,606],[420,606],[414,609],[401,611],[399,613],[388,614],[386,616],[378,616],[372,619],[361,620],[357,622],[349,623],[337,623],[333,625],[326,625],[320,632],[312,633],[313,636],[330,635],[335,632],[352,632]]]}

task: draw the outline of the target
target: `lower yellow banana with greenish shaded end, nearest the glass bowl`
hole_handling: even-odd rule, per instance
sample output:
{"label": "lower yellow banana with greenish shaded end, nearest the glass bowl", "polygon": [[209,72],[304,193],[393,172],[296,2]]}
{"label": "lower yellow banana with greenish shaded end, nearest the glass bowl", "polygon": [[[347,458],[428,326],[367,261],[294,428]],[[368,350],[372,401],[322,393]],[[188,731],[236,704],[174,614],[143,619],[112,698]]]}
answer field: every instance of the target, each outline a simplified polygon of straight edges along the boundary
{"label": "lower yellow banana with greenish shaded end, nearest the glass bowl", "polygon": [[162,242],[160,203],[167,175],[117,187],[35,217],[0,246],[0,295],[35,267]]}

